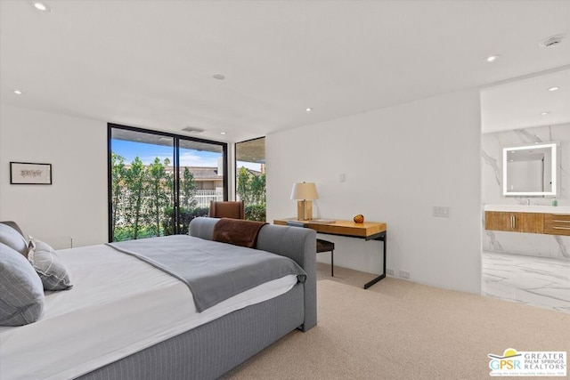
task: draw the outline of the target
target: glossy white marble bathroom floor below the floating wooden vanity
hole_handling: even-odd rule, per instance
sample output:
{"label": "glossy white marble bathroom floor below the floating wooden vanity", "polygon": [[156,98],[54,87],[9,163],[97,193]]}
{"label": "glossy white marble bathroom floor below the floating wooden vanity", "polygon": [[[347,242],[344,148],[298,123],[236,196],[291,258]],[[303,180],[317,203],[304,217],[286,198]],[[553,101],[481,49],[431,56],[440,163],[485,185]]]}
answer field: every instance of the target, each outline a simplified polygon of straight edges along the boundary
{"label": "glossy white marble bathroom floor below the floating wooden vanity", "polygon": [[570,313],[570,261],[484,252],[482,295]]}

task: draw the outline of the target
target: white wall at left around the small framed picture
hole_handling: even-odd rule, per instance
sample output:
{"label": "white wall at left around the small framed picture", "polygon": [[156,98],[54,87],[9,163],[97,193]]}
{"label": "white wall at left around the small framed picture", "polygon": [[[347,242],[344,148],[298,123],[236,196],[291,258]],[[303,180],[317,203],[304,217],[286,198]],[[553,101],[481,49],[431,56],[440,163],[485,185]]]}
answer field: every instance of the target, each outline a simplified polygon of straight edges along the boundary
{"label": "white wall at left around the small framed picture", "polygon": [[[53,185],[11,185],[10,161],[52,164]],[[107,241],[107,124],[2,105],[0,220],[53,247]]]}

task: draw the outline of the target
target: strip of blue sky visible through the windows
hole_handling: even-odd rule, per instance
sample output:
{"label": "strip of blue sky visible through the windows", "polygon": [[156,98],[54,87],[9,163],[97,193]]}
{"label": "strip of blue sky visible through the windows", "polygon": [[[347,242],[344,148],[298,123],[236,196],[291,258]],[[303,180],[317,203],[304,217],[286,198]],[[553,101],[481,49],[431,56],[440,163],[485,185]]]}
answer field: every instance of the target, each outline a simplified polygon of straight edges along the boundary
{"label": "strip of blue sky visible through the windows", "polygon": [[[174,149],[166,145],[147,144],[144,142],[134,142],[125,140],[111,140],[111,150],[119,156],[125,158],[125,164],[130,164],[138,156],[142,164],[149,165],[155,158],[164,162],[168,158],[174,161]],[[222,157],[222,153],[210,152],[206,150],[180,149],[180,166],[209,166],[217,167],[217,158]],[[238,167],[245,166],[248,169],[261,171],[261,164],[253,162],[238,161]]]}

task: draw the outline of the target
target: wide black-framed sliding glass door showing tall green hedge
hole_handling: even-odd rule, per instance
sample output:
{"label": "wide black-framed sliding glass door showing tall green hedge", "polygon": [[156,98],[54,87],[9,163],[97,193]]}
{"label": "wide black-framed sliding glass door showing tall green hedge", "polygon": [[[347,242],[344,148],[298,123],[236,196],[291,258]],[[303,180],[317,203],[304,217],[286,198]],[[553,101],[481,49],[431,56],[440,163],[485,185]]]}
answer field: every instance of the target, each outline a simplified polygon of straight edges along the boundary
{"label": "wide black-framed sliding glass door showing tall green hedge", "polygon": [[227,199],[227,145],[109,125],[109,239],[187,233]]}

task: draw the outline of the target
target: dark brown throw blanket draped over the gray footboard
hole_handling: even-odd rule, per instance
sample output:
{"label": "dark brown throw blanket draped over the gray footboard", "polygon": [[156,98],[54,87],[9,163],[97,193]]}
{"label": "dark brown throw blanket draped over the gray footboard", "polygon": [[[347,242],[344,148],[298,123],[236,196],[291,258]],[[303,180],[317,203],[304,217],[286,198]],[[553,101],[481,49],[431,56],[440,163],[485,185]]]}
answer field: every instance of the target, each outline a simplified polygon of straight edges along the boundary
{"label": "dark brown throw blanket draped over the gray footboard", "polygon": [[265,224],[267,223],[222,218],[214,226],[213,239],[234,246],[255,248],[259,230]]}

